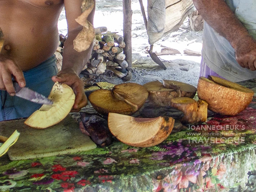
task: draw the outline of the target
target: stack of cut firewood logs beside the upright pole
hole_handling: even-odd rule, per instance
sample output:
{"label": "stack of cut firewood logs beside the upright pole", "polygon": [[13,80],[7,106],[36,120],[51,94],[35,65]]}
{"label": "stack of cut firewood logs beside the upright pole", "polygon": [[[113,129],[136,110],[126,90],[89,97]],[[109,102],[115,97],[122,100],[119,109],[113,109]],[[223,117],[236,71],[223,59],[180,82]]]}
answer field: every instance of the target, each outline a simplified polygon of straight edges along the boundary
{"label": "stack of cut firewood logs beside the upright pole", "polygon": [[102,33],[102,30],[100,31],[101,33],[96,33],[91,58],[84,70],[97,76],[104,73],[105,70],[110,70],[117,77],[129,80],[127,78],[131,74],[127,70],[128,63],[125,60],[125,54],[123,54],[123,48],[125,48],[123,36],[116,32]]}

